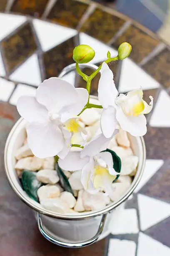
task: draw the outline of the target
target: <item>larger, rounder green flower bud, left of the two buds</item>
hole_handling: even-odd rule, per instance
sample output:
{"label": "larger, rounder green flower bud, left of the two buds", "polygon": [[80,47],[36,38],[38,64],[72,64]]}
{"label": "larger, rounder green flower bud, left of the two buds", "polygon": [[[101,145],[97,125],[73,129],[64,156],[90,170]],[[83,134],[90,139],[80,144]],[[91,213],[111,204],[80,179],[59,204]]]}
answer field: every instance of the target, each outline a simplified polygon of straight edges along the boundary
{"label": "larger, rounder green flower bud, left of the two buds", "polygon": [[95,56],[95,51],[86,44],[80,44],[75,47],[72,58],[77,63],[87,63]]}

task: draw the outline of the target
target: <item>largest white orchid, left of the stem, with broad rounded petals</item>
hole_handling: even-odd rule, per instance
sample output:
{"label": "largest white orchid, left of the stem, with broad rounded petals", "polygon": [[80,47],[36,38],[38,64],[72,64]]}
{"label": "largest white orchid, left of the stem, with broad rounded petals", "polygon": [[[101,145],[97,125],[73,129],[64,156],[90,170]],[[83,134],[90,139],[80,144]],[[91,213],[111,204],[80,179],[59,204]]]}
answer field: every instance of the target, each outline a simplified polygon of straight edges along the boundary
{"label": "largest white orchid, left of the stem, with broad rounded petals", "polygon": [[26,119],[28,144],[39,158],[58,155],[64,158],[71,146],[72,134],[82,132],[78,115],[88,100],[88,92],[52,77],[39,85],[35,97],[22,96],[17,103]]}

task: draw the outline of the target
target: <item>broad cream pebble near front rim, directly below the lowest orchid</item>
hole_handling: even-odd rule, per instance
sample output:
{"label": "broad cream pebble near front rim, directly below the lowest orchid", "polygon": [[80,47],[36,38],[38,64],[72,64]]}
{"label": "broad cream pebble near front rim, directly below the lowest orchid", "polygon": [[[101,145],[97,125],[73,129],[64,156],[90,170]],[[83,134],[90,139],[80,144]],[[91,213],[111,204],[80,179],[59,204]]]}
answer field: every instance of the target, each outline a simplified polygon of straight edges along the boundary
{"label": "broad cream pebble near front rim, directly below the lowest orchid", "polygon": [[86,211],[100,210],[105,208],[109,202],[110,200],[108,197],[102,192],[90,194],[89,192],[84,191],[82,194],[82,203]]}

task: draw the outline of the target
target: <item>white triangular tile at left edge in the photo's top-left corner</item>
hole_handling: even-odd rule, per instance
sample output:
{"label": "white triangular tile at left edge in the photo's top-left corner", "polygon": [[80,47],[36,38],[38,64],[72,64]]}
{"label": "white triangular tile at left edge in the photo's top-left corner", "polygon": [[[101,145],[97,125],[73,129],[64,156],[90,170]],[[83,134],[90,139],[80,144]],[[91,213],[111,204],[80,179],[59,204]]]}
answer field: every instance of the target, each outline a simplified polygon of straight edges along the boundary
{"label": "white triangular tile at left edge in the photo's top-left corner", "polygon": [[0,13],[0,41],[21,26],[26,20],[21,15]]}

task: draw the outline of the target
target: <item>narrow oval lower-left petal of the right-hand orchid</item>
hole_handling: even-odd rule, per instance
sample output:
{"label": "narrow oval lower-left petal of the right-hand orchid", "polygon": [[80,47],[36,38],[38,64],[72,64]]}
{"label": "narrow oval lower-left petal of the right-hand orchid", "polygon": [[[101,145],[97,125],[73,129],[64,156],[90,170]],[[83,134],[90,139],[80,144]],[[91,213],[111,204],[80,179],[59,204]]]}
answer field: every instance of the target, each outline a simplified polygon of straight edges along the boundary
{"label": "narrow oval lower-left petal of the right-hand orchid", "polygon": [[109,106],[104,109],[101,115],[101,130],[106,138],[112,137],[117,125],[116,110]]}

